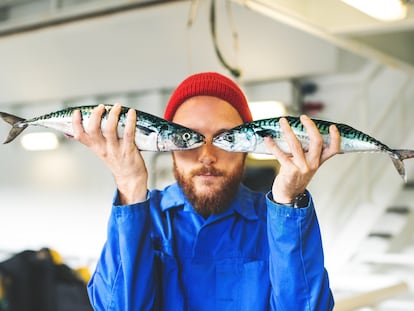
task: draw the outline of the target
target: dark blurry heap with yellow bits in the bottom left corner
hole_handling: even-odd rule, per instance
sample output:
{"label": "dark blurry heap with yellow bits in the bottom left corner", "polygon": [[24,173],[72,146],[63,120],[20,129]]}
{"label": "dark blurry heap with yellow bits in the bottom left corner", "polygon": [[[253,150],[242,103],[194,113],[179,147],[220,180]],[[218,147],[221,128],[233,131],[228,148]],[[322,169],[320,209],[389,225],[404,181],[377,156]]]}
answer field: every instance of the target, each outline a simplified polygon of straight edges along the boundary
{"label": "dark blurry heap with yellow bits in the bottom left corner", "polygon": [[[49,249],[26,250],[0,263],[6,278],[0,311],[92,311],[83,280],[55,264]],[[1,301],[1,300],[0,300]]]}

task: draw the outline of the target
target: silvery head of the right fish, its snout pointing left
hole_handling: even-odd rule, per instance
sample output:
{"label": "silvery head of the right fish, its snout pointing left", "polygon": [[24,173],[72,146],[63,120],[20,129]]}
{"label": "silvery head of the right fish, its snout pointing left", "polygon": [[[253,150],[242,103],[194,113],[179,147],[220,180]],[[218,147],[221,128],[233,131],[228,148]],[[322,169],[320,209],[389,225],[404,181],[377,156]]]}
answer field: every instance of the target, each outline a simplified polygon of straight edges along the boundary
{"label": "silvery head of the right fish, its snout pointing left", "polygon": [[212,144],[229,152],[252,152],[256,141],[253,131],[234,128],[216,135]]}

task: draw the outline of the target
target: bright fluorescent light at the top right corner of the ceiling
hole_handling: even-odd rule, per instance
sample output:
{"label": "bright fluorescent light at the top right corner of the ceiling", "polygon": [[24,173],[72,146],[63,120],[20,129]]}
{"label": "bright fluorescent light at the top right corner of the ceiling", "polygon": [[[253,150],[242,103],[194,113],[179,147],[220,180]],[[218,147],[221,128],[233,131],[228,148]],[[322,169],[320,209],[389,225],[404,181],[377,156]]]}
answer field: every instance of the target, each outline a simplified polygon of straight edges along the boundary
{"label": "bright fluorescent light at the top right corner of the ceiling", "polygon": [[342,0],[357,10],[381,21],[396,21],[407,15],[402,0]]}

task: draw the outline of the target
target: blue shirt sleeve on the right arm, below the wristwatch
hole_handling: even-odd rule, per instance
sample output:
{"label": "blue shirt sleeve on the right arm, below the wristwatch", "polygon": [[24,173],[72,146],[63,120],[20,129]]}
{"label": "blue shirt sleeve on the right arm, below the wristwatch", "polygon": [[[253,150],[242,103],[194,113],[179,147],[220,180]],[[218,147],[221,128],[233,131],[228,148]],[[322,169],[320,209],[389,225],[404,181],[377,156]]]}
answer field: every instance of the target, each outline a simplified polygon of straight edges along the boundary
{"label": "blue shirt sleeve on the right arm, below the wristwatch", "polygon": [[308,207],[297,209],[273,202],[268,194],[267,207],[272,310],[332,310],[312,198]]}

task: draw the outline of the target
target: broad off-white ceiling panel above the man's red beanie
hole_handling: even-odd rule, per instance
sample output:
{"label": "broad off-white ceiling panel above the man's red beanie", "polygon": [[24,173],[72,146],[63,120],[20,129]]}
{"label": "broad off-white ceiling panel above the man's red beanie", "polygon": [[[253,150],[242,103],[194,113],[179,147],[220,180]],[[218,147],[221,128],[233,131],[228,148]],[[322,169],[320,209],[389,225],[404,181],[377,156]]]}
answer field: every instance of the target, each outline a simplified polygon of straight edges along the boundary
{"label": "broad off-white ceiling panel above the man's red beanie", "polygon": [[[233,4],[235,49],[224,3],[217,7],[219,46],[241,68],[242,81],[332,73],[347,59],[358,59],[324,38]],[[0,104],[170,88],[192,72],[227,73],[214,54],[209,1],[200,1],[188,28],[190,4],[170,2],[39,29],[33,22],[32,31],[3,36]]]}

